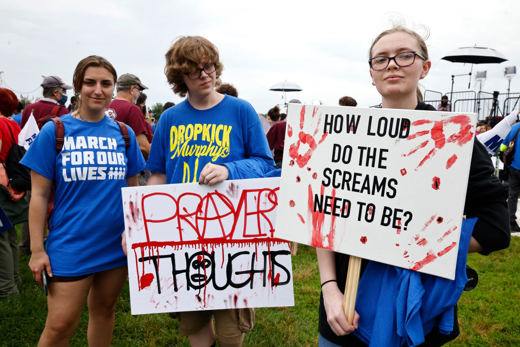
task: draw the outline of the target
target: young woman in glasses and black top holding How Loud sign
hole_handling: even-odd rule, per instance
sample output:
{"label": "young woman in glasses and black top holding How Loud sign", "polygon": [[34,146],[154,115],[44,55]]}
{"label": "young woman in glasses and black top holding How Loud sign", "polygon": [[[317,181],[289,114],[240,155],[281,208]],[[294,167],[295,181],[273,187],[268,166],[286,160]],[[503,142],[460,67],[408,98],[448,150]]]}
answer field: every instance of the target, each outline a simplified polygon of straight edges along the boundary
{"label": "young woman in glasses and black top holding How Loud sign", "polygon": [[[382,32],[370,47],[368,63],[372,84],[381,94],[383,108],[435,111],[433,106],[422,102],[418,87],[419,80],[426,77],[432,63],[428,59],[424,40],[417,33],[400,26]],[[475,141],[464,207],[465,215],[478,217],[469,252],[487,255],[509,246],[508,188],[492,175],[493,171],[486,149]],[[359,315],[355,313],[353,325],[350,325],[343,313],[343,289],[349,256],[320,248],[316,252],[323,284],[319,307],[319,344],[366,345],[352,333],[358,329]],[[367,264],[368,261],[363,260],[361,276]],[[378,302],[378,298],[373,298],[373,301]],[[452,331],[444,335],[435,326],[430,331],[424,331],[425,343],[442,345],[459,335],[457,306],[453,307],[453,311]],[[365,324],[362,318],[361,324]]]}

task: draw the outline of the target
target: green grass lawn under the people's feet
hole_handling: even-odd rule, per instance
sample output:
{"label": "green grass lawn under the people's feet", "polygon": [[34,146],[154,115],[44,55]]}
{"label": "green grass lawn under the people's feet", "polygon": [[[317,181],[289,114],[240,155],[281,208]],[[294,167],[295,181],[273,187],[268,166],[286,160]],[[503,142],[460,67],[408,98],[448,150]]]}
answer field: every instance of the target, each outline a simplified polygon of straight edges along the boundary
{"label": "green grass lawn under the people's feet", "polygon": [[[471,254],[468,264],[478,271],[478,286],[459,302],[461,336],[452,346],[520,345],[520,238],[508,250],[489,256]],[[0,344],[36,345],[46,318],[46,300],[22,255],[20,295],[0,301]],[[256,309],[256,324],[245,337],[246,346],[317,345],[319,274],[314,248],[300,245],[293,258],[294,307]],[[85,310],[71,345],[86,346]],[[116,304],[114,346],[189,345],[177,332],[177,321],[166,314],[132,316],[128,284]]]}

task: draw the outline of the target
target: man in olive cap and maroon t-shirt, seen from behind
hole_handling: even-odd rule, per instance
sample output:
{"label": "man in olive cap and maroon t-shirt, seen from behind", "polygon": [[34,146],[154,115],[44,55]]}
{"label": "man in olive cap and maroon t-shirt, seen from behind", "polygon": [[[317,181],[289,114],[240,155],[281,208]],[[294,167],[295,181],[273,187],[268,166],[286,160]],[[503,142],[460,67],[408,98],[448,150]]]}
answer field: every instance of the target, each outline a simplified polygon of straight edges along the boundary
{"label": "man in olive cap and maroon t-shirt, seen from behind", "polygon": [[141,83],[136,75],[125,73],[119,76],[116,83],[117,94],[107,106],[106,114],[116,121],[128,125],[134,131],[142,156],[148,158],[150,143],[148,142],[149,130],[141,109],[135,105],[141,91],[148,87]]}

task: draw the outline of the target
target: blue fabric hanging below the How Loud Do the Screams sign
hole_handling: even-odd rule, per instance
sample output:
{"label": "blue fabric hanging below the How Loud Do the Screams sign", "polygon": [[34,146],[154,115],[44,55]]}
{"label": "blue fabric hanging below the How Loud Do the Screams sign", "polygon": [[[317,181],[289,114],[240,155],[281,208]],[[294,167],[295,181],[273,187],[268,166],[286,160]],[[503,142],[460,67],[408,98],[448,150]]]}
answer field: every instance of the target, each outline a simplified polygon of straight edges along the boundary
{"label": "blue fabric hanging below the How Loud Do the Screams sign", "polygon": [[453,307],[467,282],[467,250],[476,221],[462,222],[454,280],[370,261],[359,281],[355,335],[373,346],[412,347],[435,326],[450,333]]}

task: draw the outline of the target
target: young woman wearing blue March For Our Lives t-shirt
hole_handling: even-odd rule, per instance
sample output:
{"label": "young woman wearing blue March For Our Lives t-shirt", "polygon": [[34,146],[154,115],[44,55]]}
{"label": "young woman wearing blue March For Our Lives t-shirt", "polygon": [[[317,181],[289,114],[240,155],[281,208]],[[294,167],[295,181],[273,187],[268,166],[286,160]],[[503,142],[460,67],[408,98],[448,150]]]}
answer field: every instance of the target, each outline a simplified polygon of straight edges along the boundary
{"label": "young woman wearing blue March For Our Lives t-shirt", "polygon": [[[64,115],[64,144],[56,152],[56,128],[48,122],[22,163],[31,169],[29,226],[35,280],[48,274],[48,315],[38,345],[69,343],[88,296],[89,345],[110,345],[114,306],[127,266],[121,249],[124,230],[121,188],[137,186],[145,165],[135,135],[125,142],[118,123],[105,116],[116,72],[106,59],[89,56],[74,71],[80,107]],[[44,248],[47,205],[54,209]]]}

